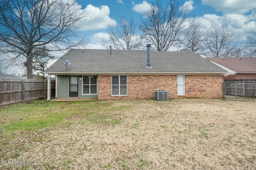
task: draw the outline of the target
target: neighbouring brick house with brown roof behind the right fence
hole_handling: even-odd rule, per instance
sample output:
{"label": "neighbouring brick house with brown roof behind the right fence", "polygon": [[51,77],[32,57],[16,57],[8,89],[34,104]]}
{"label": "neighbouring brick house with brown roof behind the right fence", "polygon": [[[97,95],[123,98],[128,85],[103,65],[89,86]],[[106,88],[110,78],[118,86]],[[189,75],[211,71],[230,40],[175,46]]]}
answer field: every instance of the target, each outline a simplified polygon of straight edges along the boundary
{"label": "neighbouring brick house with brown roof behind the right fence", "polygon": [[228,71],[228,76],[225,80],[238,79],[256,79],[256,58],[255,57],[241,57],[241,58],[206,58],[212,63],[220,66]]}

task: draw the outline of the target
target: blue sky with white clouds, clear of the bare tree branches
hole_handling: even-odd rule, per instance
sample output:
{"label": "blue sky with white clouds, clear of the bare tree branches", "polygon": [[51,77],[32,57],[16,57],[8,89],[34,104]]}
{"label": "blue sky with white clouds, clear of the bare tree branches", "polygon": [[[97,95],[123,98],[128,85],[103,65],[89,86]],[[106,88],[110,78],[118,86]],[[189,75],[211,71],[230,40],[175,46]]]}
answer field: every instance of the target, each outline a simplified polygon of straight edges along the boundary
{"label": "blue sky with white clouds, clear of the bare tree branches", "polygon": [[[241,36],[241,40],[245,40],[248,35],[256,35],[256,0],[185,0],[184,2],[189,4],[190,14],[200,18],[205,27],[212,22],[227,23]],[[100,37],[107,36],[107,28],[117,24],[122,16],[139,22],[152,0],[79,0],[78,3],[82,9],[90,11],[79,33],[86,34],[90,40],[86,48],[104,49],[100,44]]]}

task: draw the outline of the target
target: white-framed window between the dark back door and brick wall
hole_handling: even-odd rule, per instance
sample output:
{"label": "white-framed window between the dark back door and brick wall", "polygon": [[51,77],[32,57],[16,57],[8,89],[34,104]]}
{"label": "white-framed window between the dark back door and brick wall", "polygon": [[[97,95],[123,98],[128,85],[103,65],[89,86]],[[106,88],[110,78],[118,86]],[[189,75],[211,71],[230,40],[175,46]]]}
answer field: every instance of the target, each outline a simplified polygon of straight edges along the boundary
{"label": "white-framed window between the dark back door and brick wall", "polygon": [[97,94],[97,76],[83,76],[82,94]]}

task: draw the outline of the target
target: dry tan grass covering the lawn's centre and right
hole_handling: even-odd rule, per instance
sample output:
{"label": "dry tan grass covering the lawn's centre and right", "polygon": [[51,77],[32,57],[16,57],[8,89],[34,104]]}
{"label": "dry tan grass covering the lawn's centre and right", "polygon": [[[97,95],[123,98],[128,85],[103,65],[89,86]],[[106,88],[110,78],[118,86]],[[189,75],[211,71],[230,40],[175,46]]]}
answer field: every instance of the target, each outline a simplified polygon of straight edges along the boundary
{"label": "dry tan grass covering the lawn's centre and right", "polygon": [[109,102],[114,108],[96,114],[100,121],[88,121],[88,117],[83,121],[80,113],[81,117],[67,117],[68,124],[40,129],[37,132],[40,138],[30,142],[31,147],[24,149],[16,160],[34,160],[33,165],[27,166],[34,169],[256,167],[255,102],[217,99],[102,102]]}

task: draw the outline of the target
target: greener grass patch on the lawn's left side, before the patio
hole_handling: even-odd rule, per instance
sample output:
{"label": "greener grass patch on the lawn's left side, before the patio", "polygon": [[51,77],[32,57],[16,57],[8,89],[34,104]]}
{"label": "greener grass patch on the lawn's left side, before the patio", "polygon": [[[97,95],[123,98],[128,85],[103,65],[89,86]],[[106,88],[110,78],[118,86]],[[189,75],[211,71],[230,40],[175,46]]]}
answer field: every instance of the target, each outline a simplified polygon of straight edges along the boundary
{"label": "greener grass patch on the lawn's left side, before the patio", "polygon": [[119,125],[120,119],[114,117],[114,111],[122,111],[130,107],[113,107],[113,101],[75,101],[46,102],[35,100],[27,104],[14,104],[0,108],[1,117],[5,118],[0,130],[7,132],[30,131],[79,122],[100,123],[103,125]]}

